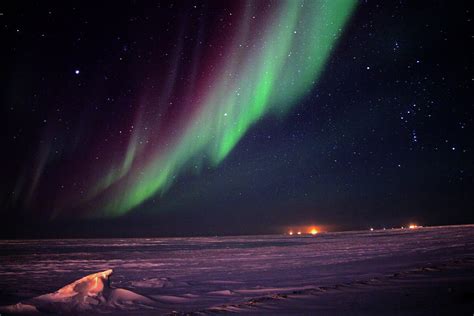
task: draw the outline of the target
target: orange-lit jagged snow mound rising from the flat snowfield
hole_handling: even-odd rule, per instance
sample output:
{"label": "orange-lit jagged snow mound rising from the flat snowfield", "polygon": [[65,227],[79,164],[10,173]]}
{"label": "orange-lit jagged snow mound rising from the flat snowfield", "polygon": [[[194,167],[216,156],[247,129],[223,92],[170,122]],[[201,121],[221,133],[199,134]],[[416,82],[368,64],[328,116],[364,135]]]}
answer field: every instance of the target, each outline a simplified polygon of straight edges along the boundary
{"label": "orange-lit jagged snow mound rising from the flat snowfield", "polygon": [[97,272],[68,284],[54,293],[34,297],[15,305],[0,307],[8,314],[88,314],[89,312],[132,311],[157,306],[138,293],[110,287],[112,270]]}

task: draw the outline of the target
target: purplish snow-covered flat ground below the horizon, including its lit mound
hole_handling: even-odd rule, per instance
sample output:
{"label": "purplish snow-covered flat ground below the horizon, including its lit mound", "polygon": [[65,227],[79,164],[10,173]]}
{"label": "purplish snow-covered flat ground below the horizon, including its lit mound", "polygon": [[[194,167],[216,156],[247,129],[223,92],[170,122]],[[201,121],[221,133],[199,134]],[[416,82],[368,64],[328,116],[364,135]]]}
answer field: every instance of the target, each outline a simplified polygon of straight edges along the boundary
{"label": "purplish snow-covered flat ground below the horizon, including its lit mound", "polygon": [[0,305],[87,315],[472,315],[474,226],[0,241]]}

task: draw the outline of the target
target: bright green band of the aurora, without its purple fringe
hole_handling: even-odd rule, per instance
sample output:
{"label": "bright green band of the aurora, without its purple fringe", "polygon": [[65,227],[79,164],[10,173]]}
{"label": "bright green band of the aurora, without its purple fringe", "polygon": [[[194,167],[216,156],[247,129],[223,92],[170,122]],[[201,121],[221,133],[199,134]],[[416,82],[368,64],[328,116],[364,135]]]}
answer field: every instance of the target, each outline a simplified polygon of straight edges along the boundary
{"label": "bright green band of the aurora, without its purple fringe", "polygon": [[134,166],[134,158],[145,149],[137,144],[143,136],[133,135],[119,171],[101,179],[96,190],[127,178],[105,202],[106,213],[129,211],[164,192],[182,169],[216,166],[262,116],[284,115],[317,81],[354,5],[354,1],[281,2],[260,26],[259,36],[252,38],[255,8],[247,4],[229,48],[224,48],[228,56],[209,78],[207,89],[200,90],[199,99],[196,91],[184,98],[189,102],[184,106],[193,113],[168,148],[158,148]]}

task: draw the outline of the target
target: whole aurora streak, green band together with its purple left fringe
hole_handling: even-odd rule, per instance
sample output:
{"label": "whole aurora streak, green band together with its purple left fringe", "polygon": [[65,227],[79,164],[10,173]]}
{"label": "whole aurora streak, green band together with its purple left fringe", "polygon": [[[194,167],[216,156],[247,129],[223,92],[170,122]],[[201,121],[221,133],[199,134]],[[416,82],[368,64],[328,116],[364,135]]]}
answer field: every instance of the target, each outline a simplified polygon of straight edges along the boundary
{"label": "whole aurora streak, green band together with its purple left fringe", "polygon": [[[93,216],[120,215],[163,194],[182,172],[217,166],[259,119],[285,115],[317,82],[354,6],[352,0],[281,1],[265,7],[268,12],[256,22],[263,7],[242,2],[237,13],[229,12],[235,14],[231,19],[235,22],[227,30],[222,58],[209,58],[199,47],[191,52],[191,67],[184,71],[189,86],[173,104],[184,114],[168,123],[174,119],[170,96],[179,89],[174,77],[178,69],[171,69],[171,75],[160,77],[163,87],[151,91],[153,99],[138,106],[130,117],[128,124],[133,127],[126,149],[104,162],[94,162],[100,170],[82,180],[88,191],[53,206],[53,215],[85,203],[92,203]],[[199,38],[205,31],[191,34]],[[183,44],[180,38],[177,41],[172,59],[182,54]],[[211,71],[206,69],[209,63]],[[28,195],[41,181],[44,160],[36,167]]]}

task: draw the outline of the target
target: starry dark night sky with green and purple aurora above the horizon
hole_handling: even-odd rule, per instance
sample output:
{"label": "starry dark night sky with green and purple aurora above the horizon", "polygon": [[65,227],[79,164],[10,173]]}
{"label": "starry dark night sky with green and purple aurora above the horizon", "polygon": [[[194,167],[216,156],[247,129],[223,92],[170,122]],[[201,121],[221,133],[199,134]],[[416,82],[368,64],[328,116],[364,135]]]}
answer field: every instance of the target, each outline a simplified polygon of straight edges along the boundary
{"label": "starry dark night sky with green and purple aurora above the horizon", "polygon": [[1,237],[474,222],[453,1],[3,1]]}

